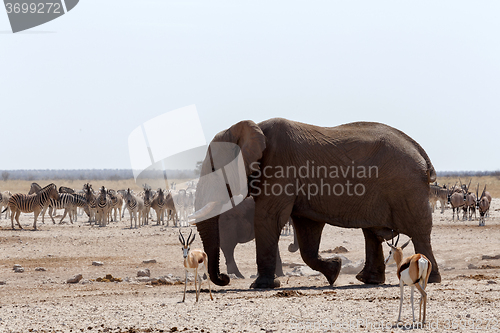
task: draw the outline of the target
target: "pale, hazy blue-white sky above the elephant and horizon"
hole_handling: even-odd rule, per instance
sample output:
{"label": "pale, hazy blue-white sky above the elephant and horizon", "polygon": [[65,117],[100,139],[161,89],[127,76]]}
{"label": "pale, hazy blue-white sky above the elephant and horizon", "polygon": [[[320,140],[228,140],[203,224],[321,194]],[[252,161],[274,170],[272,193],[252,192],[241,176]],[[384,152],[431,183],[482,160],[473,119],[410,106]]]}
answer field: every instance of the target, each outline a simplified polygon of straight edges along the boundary
{"label": "pale, hazy blue-white sky above the elephant and horizon", "polygon": [[[192,104],[207,141],[244,119],[377,121],[436,170],[500,170],[499,13],[499,1],[81,0],[12,34],[0,10],[0,170],[130,168],[129,134]],[[175,126],[165,145],[185,139]]]}

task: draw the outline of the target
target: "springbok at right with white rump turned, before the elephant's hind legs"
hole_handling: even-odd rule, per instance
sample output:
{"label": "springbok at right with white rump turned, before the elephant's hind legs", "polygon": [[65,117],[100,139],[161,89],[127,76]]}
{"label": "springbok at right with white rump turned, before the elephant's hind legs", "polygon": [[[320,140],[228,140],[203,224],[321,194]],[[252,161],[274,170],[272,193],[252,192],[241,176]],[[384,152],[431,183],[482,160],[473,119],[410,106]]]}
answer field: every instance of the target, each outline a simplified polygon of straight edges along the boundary
{"label": "springbok at right with white rump turned, before the elephant's hind legs", "polygon": [[[427,307],[427,293],[425,292],[425,287],[427,286],[427,281],[429,281],[429,275],[431,274],[432,264],[429,259],[423,254],[414,254],[403,260],[403,249],[410,243],[411,238],[404,243],[401,247],[398,247],[399,235],[394,244],[394,238],[392,239],[392,244],[386,241],[387,245],[391,248],[389,256],[385,259],[385,264],[390,265],[396,262],[398,266],[397,275],[399,279],[399,288],[401,291],[400,302],[399,302],[399,316],[398,322],[401,321],[401,309],[403,308],[403,288],[404,285],[411,287],[411,311],[413,316],[413,321],[415,321],[415,310],[413,307],[413,291],[414,287],[420,292],[420,308],[418,320],[425,323],[425,310]],[[423,319],[422,319],[422,302],[424,305]],[[422,319],[422,320],[421,320]]]}

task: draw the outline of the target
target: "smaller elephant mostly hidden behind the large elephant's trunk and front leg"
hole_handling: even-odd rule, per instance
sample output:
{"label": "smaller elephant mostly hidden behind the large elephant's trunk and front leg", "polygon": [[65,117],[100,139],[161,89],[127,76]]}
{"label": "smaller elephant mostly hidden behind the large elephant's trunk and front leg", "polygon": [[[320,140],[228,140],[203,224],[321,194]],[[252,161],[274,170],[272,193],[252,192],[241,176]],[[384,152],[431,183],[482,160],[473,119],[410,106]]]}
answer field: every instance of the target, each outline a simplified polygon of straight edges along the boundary
{"label": "smaller elephant mostly hidden behind the large elephant's trunk and front leg", "polygon": [[[219,218],[220,248],[226,258],[227,274],[245,278],[234,261],[234,248],[255,238],[253,219],[255,202],[248,197],[235,208],[223,213]],[[276,254],[276,275],[283,276],[279,249]]]}

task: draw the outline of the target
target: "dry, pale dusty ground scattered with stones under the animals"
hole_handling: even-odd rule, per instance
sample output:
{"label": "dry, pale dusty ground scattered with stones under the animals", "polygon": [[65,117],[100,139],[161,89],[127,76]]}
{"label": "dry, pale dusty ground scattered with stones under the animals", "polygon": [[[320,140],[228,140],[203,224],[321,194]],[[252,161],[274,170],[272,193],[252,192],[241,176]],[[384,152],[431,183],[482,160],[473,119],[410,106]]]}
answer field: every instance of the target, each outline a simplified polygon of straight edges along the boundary
{"label": "dry, pale dusty ground scattered with stones under the animals", "polygon": [[[500,254],[499,209],[500,200],[494,199],[485,227],[476,221],[452,222],[450,210],[434,214],[432,241],[443,281],[428,286],[424,331],[500,330],[500,260],[482,259]],[[214,301],[204,292],[198,303],[191,282],[181,303],[183,285],[135,280],[142,268],[149,268],[152,277],[183,276],[178,229],[129,229],[127,219],[105,228],[46,221],[39,231],[31,231],[32,215],[23,215],[22,225],[27,230],[13,231],[10,221],[0,221],[0,281],[5,281],[0,285],[0,332],[401,331],[393,326],[399,306],[394,266],[387,268],[387,284],[382,286],[363,285],[346,274],[333,287],[323,276],[290,276],[281,278],[279,289],[255,291],[248,289],[252,279],[233,279],[227,287],[214,288]],[[298,252],[287,251],[292,238],[280,241],[283,261],[302,263]],[[325,228],[321,250],[339,245],[349,250],[344,255],[353,262],[364,258],[361,230]],[[197,238],[193,247],[199,246]],[[412,250],[410,246],[406,254]],[[254,242],[239,245],[235,257],[245,276],[255,274]],[[146,259],[157,263],[143,264]],[[92,266],[94,260],[104,265]],[[14,264],[25,271],[14,273]],[[478,268],[470,269],[470,264]],[[284,270],[292,268],[286,265]],[[130,282],[65,282],[78,273],[84,280],[112,274]],[[405,291],[403,319],[411,325],[409,288]]]}

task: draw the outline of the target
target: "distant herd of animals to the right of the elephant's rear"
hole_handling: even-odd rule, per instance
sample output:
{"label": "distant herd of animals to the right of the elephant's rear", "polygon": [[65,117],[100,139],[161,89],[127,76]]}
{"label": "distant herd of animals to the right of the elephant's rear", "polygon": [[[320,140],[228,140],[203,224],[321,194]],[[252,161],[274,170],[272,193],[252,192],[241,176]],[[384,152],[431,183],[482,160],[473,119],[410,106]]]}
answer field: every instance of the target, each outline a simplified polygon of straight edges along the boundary
{"label": "distant herd of animals to the right of the elephant's rear", "polygon": [[476,210],[479,210],[479,225],[484,226],[485,217],[489,216],[489,209],[491,205],[491,195],[486,191],[486,185],[484,186],[481,196],[479,196],[479,184],[477,184],[476,193],[470,191],[471,181],[469,184],[462,184],[460,181],[460,187],[456,184],[453,187],[450,186],[439,186],[437,183],[431,185],[431,192],[429,196],[429,201],[432,207],[432,212],[436,207],[437,201],[441,203],[441,214],[444,213],[445,206],[449,204],[453,209],[453,220],[455,220],[455,212],[457,214],[457,220],[460,220],[460,208],[463,210],[462,220],[472,221],[472,215],[474,215],[474,220],[477,218]]}

